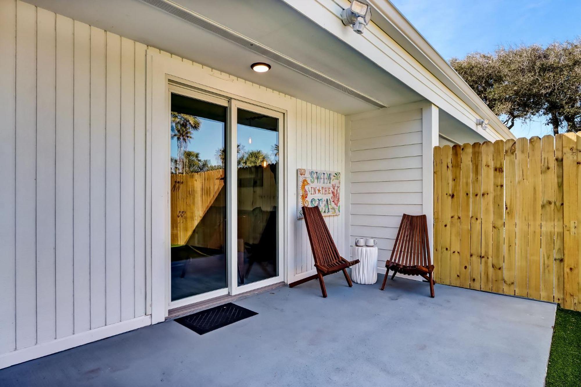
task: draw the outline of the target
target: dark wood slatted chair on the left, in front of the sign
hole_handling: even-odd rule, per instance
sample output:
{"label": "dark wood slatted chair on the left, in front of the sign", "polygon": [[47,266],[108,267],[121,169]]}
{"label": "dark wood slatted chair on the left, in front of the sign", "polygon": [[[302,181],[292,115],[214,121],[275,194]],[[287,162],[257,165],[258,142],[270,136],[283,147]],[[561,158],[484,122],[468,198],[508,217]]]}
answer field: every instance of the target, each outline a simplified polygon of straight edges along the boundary
{"label": "dark wood slatted chair on the left, in front of the sign", "polygon": [[321,210],[318,207],[303,207],[303,214],[304,224],[307,226],[307,233],[309,234],[309,241],[311,242],[311,249],[313,250],[313,259],[317,274],[303,278],[300,281],[292,282],[289,284],[289,287],[293,288],[296,285],[304,284],[304,282],[318,278],[319,284],[321,285],[321,293],[323,297],[327,297],[327,289],[325,288],[323,277],[328,274],[337,273],[338,271],[343,271],[347,284],[349,287],[353,286],[351,278],[349,278],[349,274],[345,269],[359,263],[359,260],[348,261],[339,256],[337,246],[333,242],[331,232],[329,232]]}

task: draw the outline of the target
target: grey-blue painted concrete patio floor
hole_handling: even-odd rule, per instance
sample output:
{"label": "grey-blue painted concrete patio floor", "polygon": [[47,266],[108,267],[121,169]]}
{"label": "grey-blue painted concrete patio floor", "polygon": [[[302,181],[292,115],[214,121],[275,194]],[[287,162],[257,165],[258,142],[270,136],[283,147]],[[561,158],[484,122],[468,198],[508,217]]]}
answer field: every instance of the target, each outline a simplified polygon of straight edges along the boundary
{"label": "grey-blue painted concrete patio floor", "polygon": [[[381,277],[381,276],[380,276]],[[543,386],[555,304],[341,273],[238,300],[205,335],[174,321],[0,370],[0,386]]]}

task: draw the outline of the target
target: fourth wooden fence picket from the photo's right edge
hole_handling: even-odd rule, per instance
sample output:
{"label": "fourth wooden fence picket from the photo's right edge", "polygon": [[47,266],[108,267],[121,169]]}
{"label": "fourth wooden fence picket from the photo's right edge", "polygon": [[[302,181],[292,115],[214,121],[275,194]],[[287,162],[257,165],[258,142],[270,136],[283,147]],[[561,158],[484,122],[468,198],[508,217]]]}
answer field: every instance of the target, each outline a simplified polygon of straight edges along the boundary
{"label": "fourth wooden fence picket from the photo's right edge", "polygon": [[555,149],[554,137],[541,139],[541,292],[540,299],[553,301],[555,249]]}

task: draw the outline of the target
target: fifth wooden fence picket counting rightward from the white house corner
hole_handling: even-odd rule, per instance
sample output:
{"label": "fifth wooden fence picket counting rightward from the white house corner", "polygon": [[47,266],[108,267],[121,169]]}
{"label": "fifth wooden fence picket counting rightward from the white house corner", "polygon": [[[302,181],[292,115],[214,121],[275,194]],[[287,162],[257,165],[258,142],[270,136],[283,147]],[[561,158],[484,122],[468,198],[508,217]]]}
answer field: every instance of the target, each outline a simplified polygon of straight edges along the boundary
{"label": "fifth wooden fence picket counting rightward from the white house corner", "polygon": [[480,214],[482,200],[480,184],[482,175],[482,145],[472,144],[472,214],[470,217],[470,288],[480,289]]}

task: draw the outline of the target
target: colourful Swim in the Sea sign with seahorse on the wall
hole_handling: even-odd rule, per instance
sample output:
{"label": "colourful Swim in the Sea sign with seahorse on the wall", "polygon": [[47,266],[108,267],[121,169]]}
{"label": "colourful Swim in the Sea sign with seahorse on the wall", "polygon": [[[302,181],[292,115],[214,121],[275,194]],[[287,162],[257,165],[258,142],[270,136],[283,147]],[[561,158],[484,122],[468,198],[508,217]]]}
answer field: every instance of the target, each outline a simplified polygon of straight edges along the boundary
{"label": "colourful Swim in the Sea sign with seahorse on the wall", "polygon": [[319,207],[323,216],[341,212],[339,172],[297,169],[297,219],[303,218],[302,207]]}

